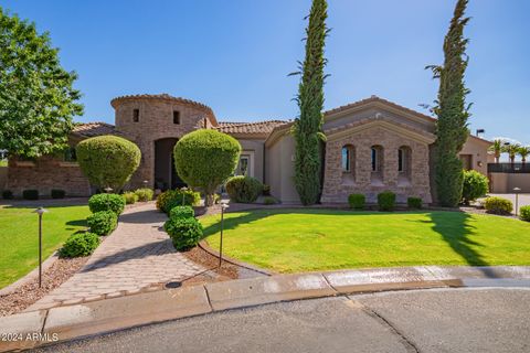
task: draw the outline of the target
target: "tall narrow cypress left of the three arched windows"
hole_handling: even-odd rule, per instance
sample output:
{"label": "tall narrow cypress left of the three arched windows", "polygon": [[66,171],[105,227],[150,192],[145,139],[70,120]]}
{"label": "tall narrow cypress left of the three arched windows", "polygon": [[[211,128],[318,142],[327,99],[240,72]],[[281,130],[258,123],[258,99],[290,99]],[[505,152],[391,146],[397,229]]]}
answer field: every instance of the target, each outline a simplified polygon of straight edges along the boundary
{"label": "tall narrow cypress left of the three arched windows", "polygon": [[300,69],[294,75],[301,75],[296,101],[300,115],[295,119],[293,135],[295,138],[295,186],[304,205],[318,202],[322,163],[322,108],[324,47],[328,29],[326,28],[327,1],[314,0],[306,29],[306,57]]}

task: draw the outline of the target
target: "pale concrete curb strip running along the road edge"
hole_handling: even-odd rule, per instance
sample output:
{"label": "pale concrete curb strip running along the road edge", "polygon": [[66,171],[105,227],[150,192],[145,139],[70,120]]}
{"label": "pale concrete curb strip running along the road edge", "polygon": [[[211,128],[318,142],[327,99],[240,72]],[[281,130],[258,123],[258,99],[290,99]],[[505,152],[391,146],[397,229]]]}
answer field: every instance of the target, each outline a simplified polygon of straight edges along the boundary
{"label": "pale concrete curb strip running along the road edge", "polygon": [[[278,301],[388,290],[530,284],[530,267],[402,267],[278,275],[145,292],[2,318],[0,352]],[[474,286],[473,284],[478,284]]]}

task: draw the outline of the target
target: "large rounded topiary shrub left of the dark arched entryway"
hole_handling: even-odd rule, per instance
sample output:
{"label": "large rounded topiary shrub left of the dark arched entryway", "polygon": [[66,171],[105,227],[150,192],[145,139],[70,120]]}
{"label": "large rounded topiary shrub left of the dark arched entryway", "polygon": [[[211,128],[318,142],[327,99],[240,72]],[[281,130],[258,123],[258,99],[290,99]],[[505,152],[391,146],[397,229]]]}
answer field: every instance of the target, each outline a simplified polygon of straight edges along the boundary
{"label": "large rounded topiary shrub left of the dark arched entryway", "polygon": [[140,149],[117,136],[98,136],[76,147],[77,162],[91,184],[119,191],[140,165]]}

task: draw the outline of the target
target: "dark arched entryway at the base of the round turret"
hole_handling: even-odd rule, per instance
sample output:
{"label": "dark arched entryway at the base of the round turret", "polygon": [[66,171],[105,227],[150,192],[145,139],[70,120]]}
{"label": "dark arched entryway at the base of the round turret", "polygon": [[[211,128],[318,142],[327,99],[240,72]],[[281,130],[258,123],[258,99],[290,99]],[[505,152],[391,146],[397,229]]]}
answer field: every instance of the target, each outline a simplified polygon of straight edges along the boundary
{"label": "dark arched entryway at the base of the round turret", "polygon": [[167,138],[155,141],[155,188],[160,190],[186,186],[177,174],[173,148],[178,139]]}

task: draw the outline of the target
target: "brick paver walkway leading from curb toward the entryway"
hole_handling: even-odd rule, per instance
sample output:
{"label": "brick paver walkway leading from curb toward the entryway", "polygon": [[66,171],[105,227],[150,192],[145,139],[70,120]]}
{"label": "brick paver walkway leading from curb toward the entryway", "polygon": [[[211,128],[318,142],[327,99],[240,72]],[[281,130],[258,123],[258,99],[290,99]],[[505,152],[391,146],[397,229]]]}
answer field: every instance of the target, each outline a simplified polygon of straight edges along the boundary
{"label": "brick paver walkway leading from curb toward the entryway", "polygon": [[131,295],[205,270],[174,250],[166,220],[152,203],[127,210],[86,265],[28,311]]}

